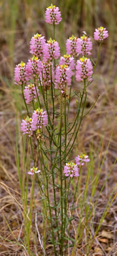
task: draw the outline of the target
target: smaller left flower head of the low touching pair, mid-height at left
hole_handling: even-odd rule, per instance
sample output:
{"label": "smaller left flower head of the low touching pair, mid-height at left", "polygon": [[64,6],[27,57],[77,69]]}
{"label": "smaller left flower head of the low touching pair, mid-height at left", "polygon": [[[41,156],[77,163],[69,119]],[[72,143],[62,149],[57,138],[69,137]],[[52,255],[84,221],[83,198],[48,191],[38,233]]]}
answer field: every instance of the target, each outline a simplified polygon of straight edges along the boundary
{"label": "smaller left flower head of the low touching pair, mid-height at left", "polygon": [[32,124],[32,119],[29,116],[27,116],[25,120],[24,119],[22,120],[21,131],[23,135],[27,134],[29,137],[33,135],[31,124]]}

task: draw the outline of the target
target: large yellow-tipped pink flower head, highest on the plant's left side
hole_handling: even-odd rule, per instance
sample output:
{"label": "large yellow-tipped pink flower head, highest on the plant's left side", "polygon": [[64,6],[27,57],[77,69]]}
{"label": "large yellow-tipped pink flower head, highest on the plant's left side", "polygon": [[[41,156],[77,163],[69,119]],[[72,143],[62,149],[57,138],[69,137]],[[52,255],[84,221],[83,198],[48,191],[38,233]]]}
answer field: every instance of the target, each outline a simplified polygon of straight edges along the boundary
{"label": "large yellow-tipped pink flower head, highest on the plant's left side", "polygon": [[37,58],[41,58],[41,56],[43,54],[43,47],[44,47],[45,43],[46,43],[46,40],[44,39],[44,36],[37,33],[36,35],[31,37],[30,53],[35,55]]}

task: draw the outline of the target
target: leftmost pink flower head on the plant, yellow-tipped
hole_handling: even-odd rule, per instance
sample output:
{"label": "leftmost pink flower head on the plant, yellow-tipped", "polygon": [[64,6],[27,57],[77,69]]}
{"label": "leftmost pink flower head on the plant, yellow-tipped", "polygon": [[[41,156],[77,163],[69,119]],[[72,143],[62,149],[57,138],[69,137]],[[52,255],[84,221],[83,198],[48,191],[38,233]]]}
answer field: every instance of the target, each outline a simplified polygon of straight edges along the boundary
{"label": "leftmost pink flower head on the plant, yellow-tipped", "polygon": [[16,65],[16,68],[14,69],[14,83],[16,83],[16,85],[22,85],[26,80],[25,63],[21,62]]}

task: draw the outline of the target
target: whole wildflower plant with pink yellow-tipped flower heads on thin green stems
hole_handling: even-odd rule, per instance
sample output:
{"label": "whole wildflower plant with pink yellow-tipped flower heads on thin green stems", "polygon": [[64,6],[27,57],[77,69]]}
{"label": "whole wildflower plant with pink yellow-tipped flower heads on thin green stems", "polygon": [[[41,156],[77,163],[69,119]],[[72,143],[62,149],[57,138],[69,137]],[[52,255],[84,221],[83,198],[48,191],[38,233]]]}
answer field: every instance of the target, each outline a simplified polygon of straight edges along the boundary
{"label": "whole wildflower plant with pink yellow-tipped flower heads on thin green stems", "polygon": [[[32,175],[31,205],[29,219],[25,224],[27,234],[25,246],[29,253],[34,192],[35,186],[38,186],[42,200],[44,225],[42,251],[46,255],[45,243],[48,235],[54,248],[54,255],[62,256],[67,255],[66,250],[71,241],[69,234],[80,173],[82,168],[88,170],[88,162],[90,162],[90,158],[86,154],[82,154],[80,148],[78,148],[78,156],[75,156],[73,149],[80,125],[84,121],[87,88],[93,80],[99,54],[96,63],[92,63],[92,60],[88,58],[92,54],[90,37],[81,35],[77,38],[73,35],[67,39],[67,53],[60,56],[60,47],[55,37],[55,26],[60,21],[59,8],[53,5],[48,7],[46,22],[52,24],[54,28],[54,39],[50,38],[46,41],[44,36],[39,33],[31,38],[30,53],[33,56],[27,61],[27,64],[21,62],[16,66],[14,81],[22,88],[27,111],[27,117],[24,117],[21,123],[21,131],[23,135],[27,136],[27,139],[29,137],[28,141],[31,145],[31,158],[29,167],[27,166],[27,175]],[[94,39],[99,41],[100,46],[107,36],[108,32],[105,28],[101,27],[95,30]],[[58,64],[56,64],[56,59],[59,59]],[[75,120],[71,123],[73,77],[75,77],[78,87],[76,92],[78,110]],[[80,91],[79,83],[82,85]],[[97,98],[93,106],[95,106]],[[27,104],[29,105],[27,106]],[[33,167],[31,168],[31,166]],[[70,200],[69,191],[72,182],[75,181],[75,194],[69,218],[67,211]],[[50,196],[49,193],[50,184],[52,184],[53,196]],[[76,241],[73,244],[74,249]]]}

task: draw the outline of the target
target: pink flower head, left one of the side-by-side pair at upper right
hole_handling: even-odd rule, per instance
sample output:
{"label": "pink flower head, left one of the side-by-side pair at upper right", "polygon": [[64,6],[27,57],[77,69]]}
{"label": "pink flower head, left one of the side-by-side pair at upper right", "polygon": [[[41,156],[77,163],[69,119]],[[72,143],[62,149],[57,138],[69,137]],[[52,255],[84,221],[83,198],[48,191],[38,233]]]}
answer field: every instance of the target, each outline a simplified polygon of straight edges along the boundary
{"label": "pink flower head, left one of the side-by-side pair at upper right", "polygon": [[72,35],[72,37],[69,37],[69,39],[67,39],[66,41],[67,53],[71,54],[71,56],[77,56],[77,41],[78,39],[74,35]]}

